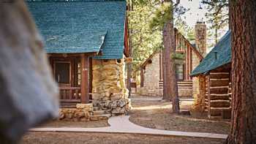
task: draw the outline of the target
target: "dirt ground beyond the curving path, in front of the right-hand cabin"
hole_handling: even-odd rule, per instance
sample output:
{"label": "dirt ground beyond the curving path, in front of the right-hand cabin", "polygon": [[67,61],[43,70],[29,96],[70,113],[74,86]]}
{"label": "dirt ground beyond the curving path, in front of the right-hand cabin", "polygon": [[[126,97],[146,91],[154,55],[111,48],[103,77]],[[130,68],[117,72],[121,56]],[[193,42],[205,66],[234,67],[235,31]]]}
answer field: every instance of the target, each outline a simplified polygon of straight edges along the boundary
{"label": "dirt ground beyond the curving path, in front of the right-hand cabin", "polygon": [[[189,110],[192,101],[182,101],[181,110]],[[211,132],[228,134],[228,120],[209,120],[206,115],[191,113],[191,115],[171,114],[170,102],[162,100],[132,100],[132,110],[129,120],[140,126],[151,129],[165,129],[184,132]]]}

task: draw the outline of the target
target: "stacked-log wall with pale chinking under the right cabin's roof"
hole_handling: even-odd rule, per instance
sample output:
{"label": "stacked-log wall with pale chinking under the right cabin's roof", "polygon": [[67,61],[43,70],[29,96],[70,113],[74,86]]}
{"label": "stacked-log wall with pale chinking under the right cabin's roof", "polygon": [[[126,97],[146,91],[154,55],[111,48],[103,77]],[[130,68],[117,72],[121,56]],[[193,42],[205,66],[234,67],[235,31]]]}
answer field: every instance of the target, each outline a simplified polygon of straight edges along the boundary
{"label": "stacked-log wall with pale chinking under the right cabin's roof", "polygon": [[230,113],[230,72],[210,72],[206,76],[208,118],[227,118]]}

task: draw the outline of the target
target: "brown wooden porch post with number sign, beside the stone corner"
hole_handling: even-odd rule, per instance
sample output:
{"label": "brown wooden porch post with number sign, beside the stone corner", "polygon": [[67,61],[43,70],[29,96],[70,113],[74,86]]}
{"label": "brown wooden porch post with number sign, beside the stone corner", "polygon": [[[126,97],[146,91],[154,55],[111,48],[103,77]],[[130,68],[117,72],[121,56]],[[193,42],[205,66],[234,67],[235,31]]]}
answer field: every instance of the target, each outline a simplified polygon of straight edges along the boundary
{"label": "brown wooden porch post with number sign, beside the stone corner", "polygon": [[81,103],[89,103],[89,56],[81,54]]}

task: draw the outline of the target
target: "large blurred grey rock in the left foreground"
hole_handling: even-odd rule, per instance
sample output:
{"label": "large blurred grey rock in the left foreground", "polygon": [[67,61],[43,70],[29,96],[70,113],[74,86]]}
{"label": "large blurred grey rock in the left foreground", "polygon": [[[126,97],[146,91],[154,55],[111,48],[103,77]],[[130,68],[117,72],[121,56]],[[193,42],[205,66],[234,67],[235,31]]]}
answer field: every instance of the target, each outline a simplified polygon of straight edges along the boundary
{"label": "large blurred grey rock in the left foreground", "polygon": [[22,0],[0,1],[0,143],[58,116],[58,88]]}

